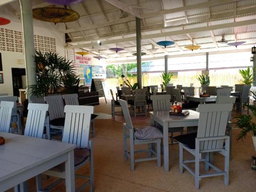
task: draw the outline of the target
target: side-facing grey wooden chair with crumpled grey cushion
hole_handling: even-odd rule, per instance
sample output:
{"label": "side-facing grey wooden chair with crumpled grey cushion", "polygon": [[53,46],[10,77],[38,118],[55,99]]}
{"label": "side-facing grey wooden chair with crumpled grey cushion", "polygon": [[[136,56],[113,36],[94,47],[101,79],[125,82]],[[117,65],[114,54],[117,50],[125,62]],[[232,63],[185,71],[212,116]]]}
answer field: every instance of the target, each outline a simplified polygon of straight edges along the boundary
{"label": "side-facing grey wooden chair with crumpled grey cushion", "polygon": [[[131,160],[131,170],[134,170],[134,164],[141,161],[157,160],[158,167],[161,167],[161,138],[163,134],[156,127],[142,127],[139,129],[134,129],[132,119],[128,110],[128,104],[125,100],[119,100],[122,111],[125,118],[125,123],[123,123],[123,151],[124,160],[128,159],[130,155]],[[130,153],[127,151],[127,139],[130,140]],[[152,144],[157,143],[157,151]],[[147,150],[134,150],[134,145],[147,144]],[[147,152],[147,158],[135,159],[135,153]],[[152,153],[156,157],[151,157]]]}

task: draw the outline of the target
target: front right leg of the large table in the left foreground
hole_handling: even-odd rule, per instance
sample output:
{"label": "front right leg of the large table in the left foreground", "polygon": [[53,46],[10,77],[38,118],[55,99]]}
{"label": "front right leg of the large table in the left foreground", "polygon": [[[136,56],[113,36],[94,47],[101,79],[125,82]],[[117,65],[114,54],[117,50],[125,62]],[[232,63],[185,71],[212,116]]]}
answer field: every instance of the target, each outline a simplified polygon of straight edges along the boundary
{"label": "front right leg of the large table in the left foreground", "polygon": [[66,191],[75,191],[74,150],[68,153],[68,161],[65,162],[65,176]]}

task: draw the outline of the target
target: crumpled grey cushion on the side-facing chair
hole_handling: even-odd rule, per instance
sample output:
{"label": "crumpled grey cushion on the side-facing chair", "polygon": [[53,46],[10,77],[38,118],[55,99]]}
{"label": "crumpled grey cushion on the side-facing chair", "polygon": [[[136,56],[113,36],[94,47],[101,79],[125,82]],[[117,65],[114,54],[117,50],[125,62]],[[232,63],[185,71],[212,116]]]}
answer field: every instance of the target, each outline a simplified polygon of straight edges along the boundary
{"label": "crumpled grey cushion on the side-facing chair", "polygon": [[154,126],[145,126],[135,130],[136,139],[148,140],[163,138],[163,133]]}

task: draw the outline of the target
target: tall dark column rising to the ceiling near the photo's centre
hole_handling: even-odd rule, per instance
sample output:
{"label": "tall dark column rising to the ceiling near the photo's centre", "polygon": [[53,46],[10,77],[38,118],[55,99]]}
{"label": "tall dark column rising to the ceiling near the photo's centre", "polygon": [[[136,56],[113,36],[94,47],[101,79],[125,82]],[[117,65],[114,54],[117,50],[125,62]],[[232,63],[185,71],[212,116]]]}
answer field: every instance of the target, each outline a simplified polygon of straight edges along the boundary
{"label": "tall dark column rising to the ceiling near the photo's centre", "polygon": [[142,89],[141,78],[141,25],[140,18],[136,17],[136,47],[137,47],[137,82],[138,89]]}

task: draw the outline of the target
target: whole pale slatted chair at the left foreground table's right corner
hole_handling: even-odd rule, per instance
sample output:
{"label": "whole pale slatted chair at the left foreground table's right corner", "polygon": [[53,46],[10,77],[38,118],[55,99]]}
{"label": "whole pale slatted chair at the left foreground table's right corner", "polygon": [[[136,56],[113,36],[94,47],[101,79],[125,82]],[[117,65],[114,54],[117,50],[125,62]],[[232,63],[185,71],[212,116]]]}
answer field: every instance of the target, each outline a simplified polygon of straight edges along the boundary
{"label": "whole pale slatted chair at the left foreground table's right corner", "polygon": [[[94,191],[94,160],[93,160],[93,141],[89,141],[91,115],[94,112],[94,106],[66,105],[65,106],[65,126],[63,131],[62,142],[76,144],[74,150],[75,172],[86,163],[90,163],[90,177],[76,175],[79,178],[87,179],[76,191],[90,184],[90,191]],[[82,156],[82,157],[81,157]],[[65,179],[65,163],[61,163],[43,174],[61,178],[55,183],[49,185],[49,188],[57,185]],[[37,190],[41,190],[40,176],[37,176]]]}

